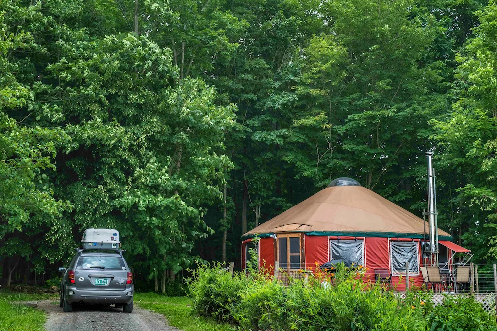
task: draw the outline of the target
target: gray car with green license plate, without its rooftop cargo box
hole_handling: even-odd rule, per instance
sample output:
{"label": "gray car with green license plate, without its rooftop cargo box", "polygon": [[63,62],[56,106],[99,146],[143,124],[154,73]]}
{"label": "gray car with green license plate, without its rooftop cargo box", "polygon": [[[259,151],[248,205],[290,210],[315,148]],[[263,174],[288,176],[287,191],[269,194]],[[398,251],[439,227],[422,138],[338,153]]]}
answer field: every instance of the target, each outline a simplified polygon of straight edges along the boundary
{"label": "gray car with green license plate, without its rooftop cargo box", "polygon": [[133,275],[122,251],[93,253],[78,249],[64,272],[60,286],[60,307],[73,311],[75,304],[100,304],[122,307],[125,313],[133,311],[135,285]]}

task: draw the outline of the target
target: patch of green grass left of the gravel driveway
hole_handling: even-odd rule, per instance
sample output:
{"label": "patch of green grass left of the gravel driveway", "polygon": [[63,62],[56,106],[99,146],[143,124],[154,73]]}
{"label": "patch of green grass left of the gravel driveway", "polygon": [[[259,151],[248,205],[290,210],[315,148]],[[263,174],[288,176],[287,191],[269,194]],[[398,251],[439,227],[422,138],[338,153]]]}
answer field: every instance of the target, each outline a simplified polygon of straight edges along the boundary
{"label": "patch of green grass left of the gravel driveway", "polygon": [[45,330],[45,312],[0,299],[0,331]]}

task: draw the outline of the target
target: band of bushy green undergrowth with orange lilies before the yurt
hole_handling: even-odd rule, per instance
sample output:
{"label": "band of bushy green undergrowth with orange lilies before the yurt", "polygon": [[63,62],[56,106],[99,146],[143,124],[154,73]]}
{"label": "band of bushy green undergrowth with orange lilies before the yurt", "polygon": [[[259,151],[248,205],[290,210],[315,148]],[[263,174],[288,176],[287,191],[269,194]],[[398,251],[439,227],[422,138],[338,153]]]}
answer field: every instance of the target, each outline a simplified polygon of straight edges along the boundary
{"label": "band of bushy green undergrowth with orange lilies before the yurt", "polygon": [[434,306],[430,293],[399,298],[380,284],[363,282],[355,271],[333,271],[315,270],[307,280],[292,279],[285,286],[264,272],[231,278],[221,265],[199,266],[188,282],[192,312],[243,330],[496,330],[495,318],[472,297]]}

